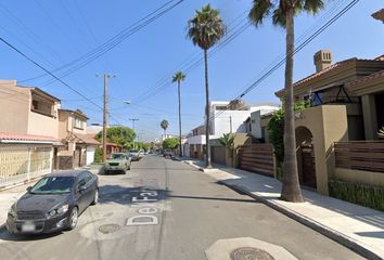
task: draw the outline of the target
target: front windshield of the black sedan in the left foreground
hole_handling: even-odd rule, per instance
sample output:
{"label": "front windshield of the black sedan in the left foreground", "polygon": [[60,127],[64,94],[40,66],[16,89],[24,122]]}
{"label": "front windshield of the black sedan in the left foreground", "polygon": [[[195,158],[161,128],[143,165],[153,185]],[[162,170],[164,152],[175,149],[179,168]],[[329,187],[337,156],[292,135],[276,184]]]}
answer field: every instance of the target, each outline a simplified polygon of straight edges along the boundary
{"label": "front windshield of the black sedan in the left foreground", "polygon": [[46,177],[29,191],[31,194],[62,194],[69,193],[74,186],[74,177]]}

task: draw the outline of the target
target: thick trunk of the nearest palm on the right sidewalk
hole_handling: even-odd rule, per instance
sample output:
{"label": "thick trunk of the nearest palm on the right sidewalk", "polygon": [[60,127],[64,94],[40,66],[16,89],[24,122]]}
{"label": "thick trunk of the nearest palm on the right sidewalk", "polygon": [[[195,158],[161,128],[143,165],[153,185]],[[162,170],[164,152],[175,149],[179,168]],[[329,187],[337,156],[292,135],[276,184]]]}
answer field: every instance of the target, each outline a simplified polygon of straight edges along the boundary
{"label": "thick trunk of the nearest palm on the right sidewalk", "polygon": [[294,10],[286,12],[286,61],[285,61],[285,116],[284,116],[284,173],[281,198],[287,202],[303,202],[298,183],[295,118],[293,101],[293,51],[294,51]]}

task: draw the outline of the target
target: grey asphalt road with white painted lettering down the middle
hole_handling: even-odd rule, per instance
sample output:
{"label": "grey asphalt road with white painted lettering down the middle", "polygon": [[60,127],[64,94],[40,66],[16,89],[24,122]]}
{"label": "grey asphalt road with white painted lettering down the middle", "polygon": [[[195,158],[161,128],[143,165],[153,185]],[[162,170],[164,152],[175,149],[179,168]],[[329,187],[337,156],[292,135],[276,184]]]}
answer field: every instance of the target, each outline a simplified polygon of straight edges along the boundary
{"label": "grey asphalt road with white painted lettering down the middle", "polygon": [[203,260],[217,239],[254,237],[298,259],[362,259],[349,249],[190,166],[146,156],[126,174],[100,176],[100,203],[76,230],[0,232],[0,259]]}

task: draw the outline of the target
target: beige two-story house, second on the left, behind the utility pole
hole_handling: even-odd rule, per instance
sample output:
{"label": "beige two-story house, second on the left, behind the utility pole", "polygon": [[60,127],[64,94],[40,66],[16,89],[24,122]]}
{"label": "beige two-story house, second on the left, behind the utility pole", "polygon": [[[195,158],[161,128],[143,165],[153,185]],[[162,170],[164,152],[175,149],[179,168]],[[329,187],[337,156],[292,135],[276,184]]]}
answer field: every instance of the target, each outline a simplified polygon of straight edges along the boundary
{"label": "beige two-story house, second on the left, behind the utility pole", "polygon": [[64,145],[55,151],[55,168],[72,169],[93,162],[100,143],[87,134],[87,120],[80,110],[59,109],[59,139]]}

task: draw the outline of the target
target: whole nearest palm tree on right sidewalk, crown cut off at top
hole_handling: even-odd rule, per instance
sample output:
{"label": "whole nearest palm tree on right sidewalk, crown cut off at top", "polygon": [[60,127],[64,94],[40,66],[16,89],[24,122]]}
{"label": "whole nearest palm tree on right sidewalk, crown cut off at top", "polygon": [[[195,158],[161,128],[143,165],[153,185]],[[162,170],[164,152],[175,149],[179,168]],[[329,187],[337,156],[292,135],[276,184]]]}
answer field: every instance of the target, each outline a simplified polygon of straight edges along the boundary
{"label": "whole nearest palm tree on right sidewalk, crown cut off at top", "polygon": [[248,17],[257,27],[266,16],[272,16],[272,23],[285,29],[285,101],[284,101],[284,176],[281,198],[287,202],[303,202],[298,183],[294,101],[293,101],[293,52],[294,16],[300,12],[318,13],[324,6],[323,0],[253,0]]}

